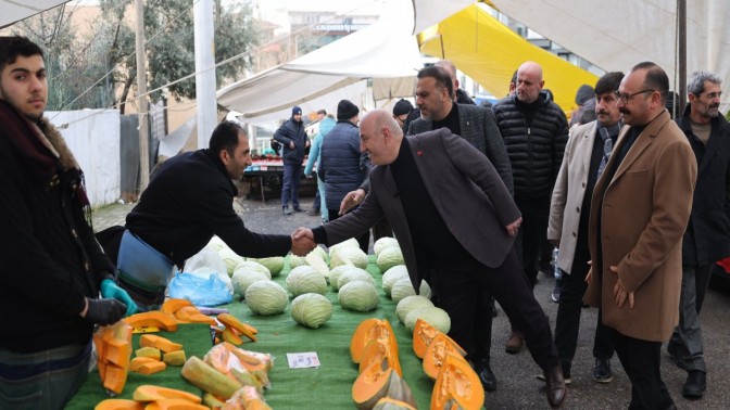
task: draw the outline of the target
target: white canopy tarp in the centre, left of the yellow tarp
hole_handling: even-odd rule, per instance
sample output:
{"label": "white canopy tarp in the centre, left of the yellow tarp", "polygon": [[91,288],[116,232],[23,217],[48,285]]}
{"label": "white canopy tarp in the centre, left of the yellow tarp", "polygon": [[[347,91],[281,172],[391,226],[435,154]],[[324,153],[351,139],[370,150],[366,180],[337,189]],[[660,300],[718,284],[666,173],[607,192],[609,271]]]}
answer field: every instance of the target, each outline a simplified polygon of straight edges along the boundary
{"label": "white canopy tarp in the centre, left of the yellow tarp", "polygon": [[423,66],[414,29],[428,27],[473,2],[391,0],[376,24],[221,89],[218,104],[242,113],[240,119],[248,123],[288,118],[293,105],[305,113],[323,107],[333,111],[341,99],[363,106],[368,78],[376,101],[413,97],[415,75]]}

